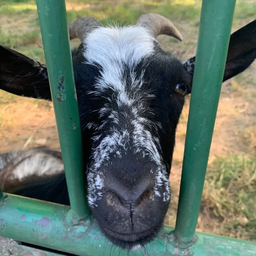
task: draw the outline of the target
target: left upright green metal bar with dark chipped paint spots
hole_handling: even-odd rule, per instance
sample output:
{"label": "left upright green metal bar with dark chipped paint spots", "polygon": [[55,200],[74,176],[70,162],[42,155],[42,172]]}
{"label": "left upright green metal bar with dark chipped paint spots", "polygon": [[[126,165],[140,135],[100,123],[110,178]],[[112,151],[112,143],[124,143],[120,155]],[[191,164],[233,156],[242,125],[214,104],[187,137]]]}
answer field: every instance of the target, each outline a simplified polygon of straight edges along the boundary
{"label": "left upright green metal bar with dark chipped paint spots", "polygon": [[64,0],[36,0],[71,209],[88,216],[82,140]]}

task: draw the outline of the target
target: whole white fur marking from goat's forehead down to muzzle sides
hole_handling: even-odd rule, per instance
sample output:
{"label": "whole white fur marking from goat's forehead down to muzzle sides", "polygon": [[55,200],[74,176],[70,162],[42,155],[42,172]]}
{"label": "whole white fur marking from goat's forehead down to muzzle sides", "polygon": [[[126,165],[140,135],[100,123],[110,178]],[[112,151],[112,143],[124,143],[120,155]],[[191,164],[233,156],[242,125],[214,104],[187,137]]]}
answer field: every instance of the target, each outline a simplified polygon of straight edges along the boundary
{"label": "whole white fur marking from goat's forehead down to muzzle sides", "polygon": [[[144,84],[144,72],[136,74],[136,65],[141,63],[147,57],[154,54],[155,38],[153,38],[146,28],[143,27],[109,27],[99,28],[88,34],[84,40],[84,57],[86,64],[100,66],[101,77],[97,79],[95,90],[90,94],[100,96],[105,90],[111,88],[117,95],[117,98],[107,98],[108,103],[99,109],[99,117],[105,118],[101,125],[95,130],[101,130],[105,127],[108,121],[111,120],[114,128],[111,128],[110,135],[105,136],[102,140],[101,136],[94,136],[93,140],[100,141],[100,144],[93,150],[94,165],[91,166],[88,174],[88,203],[91,207],[95,207],[96,200],[101,197],[97,193],[99,187],[103,187],[102,180],[99,181],[99,168],[104,161],[110,161],[110,155],[114,153],[114,157],[121,158],[120,149],[127,150],[128,146],[134,148],[134,153],[140,152],[143,157],[147,156],[154,161],[158,166],[156,185],[154,187],[155,195],[161,196],[158,188],[162,185],[166,188],[166,195],[163,196],[163,201],[169,200],[169,182],[163,177],[166,174],[165,166],[162,164],[162,158],[159,152],[159,139],[145,129],[145,124],[148,124],[155,129],[161,127],[159,123],[154,123],[139,115],[148,111],[143,109],[143,100],[153,98],[154,95],[141,93],[139,89]],[[131,88],[127,88],[125,80],[124,67],[128,67]],[[146,68],[146,67],[145,67]],[[133,94],[128,94],[128,90],[133,90]],[[137,93],[138,91],[138,93]],[[114,102],[115,100],[115,102]],[[128,107],[132,114],[132,120],[129,119],[128,113],[123,111],[114,111],[112,105],[117,103],[118,107]],[[122,115],[122,118],[120,118]],[[121,119],[127,119],[132,130],[127,130],[123,127],[122,130],[116,129],[115,125],[121,122]],[[107,121],[108,120],[108,121]],[[93,128],[93,123],[88,123],[87,128]],[[132,139],[132,145],[128,141]],[[160,175],[160,174],[161,175]],[[103,174],[102,174],[103,175]],[[98,185],[100,184],[100,185]]]}

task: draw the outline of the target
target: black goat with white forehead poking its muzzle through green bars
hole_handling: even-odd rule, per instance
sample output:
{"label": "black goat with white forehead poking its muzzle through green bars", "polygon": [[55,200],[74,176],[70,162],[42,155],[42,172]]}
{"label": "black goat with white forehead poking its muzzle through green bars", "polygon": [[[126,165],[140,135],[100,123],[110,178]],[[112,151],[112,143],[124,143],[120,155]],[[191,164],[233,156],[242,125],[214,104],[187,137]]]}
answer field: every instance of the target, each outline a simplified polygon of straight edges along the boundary
{"label": "black goat with white forehead poking its muzzle through green bars", "polygon": [[[81,40],[72,60],[88,204],[102,233],[127,250],[150,242],[162,227],[171,197],[176,127],[192,88],[195,56],[181,62],[164,52],[156,40],[159,34],[182,40],[170,20],[154,13],[140,16],[135,26],[102,27],[93,17],[69,24],[70,40]],[[223,81],[255,58],[256,20],[231,35]],[[0,63],[0,89],[52,100],[45,65],[3,46]],[[40,163],[47,161],[44,154]],[[56,169],[45,164],[48,170],[42,174],[54,176],[42,180],[33,167],[36,189],[23,180],[13,192],[68,204],[63,167],[56,163]],[[21,165],[20,172],[31,173],[31,166]],[[8,182],[2,181],[3,188]]]}

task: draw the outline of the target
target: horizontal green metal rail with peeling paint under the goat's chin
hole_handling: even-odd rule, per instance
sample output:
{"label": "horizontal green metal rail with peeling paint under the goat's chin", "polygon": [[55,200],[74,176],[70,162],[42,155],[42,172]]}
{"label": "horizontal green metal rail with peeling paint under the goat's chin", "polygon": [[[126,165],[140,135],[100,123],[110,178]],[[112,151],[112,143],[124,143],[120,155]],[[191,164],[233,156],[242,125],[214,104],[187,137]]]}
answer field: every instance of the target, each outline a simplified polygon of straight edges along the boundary
{"label": "horizontal green metal rail with peeling paint under the goat's chin", "polygon": [[[0,236],[76,255],[131,254],[109,243],[89,220],[70,225],[66,220],[69,209],[69,206],[8,195],[0,204]],[[132,252],[132,255],[256,255],[255,243],[203,233],[196,233],[198,239],[193,246],[179,249],[172,245],[175,236],[169,235],[171,231],[172,228],[166,227],[158,240],[152,241],[145,250],[141,248],[141,251]]]}

